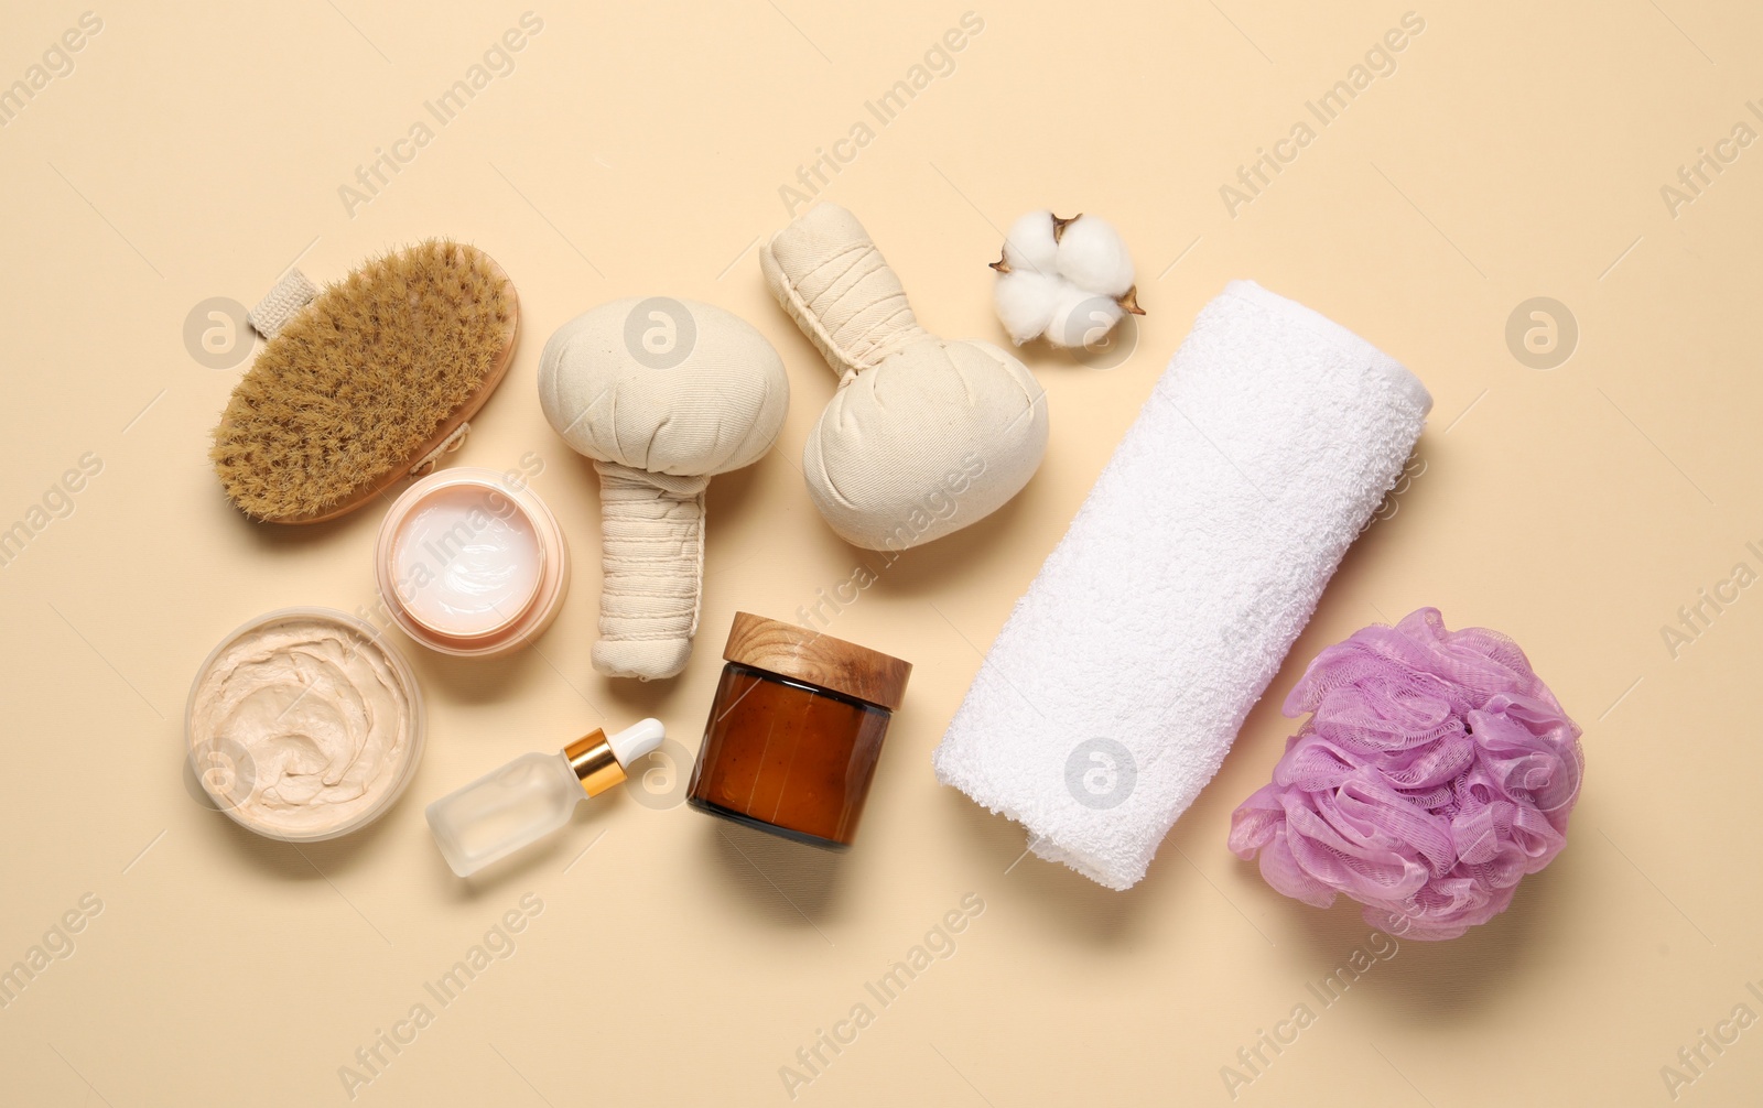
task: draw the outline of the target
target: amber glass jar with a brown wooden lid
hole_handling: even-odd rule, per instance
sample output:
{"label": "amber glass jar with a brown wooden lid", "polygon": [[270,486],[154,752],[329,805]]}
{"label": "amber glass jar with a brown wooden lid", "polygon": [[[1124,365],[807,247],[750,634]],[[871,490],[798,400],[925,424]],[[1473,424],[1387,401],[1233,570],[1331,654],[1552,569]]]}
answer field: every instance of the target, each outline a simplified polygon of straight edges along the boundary
{"label": "amber glass jar with a brown wooden lid", "polygon": [[785,838],[844,849],[911,662],[735,613],[688,801]]}

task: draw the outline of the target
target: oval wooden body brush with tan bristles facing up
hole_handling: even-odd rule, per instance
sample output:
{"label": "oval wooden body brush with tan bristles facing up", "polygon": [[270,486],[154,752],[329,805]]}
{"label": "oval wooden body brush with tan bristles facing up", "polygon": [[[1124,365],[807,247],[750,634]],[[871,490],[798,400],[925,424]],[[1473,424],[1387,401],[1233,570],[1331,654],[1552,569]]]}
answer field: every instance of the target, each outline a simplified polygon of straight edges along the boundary
{"label": "oval wooden body brush with tan bristles facing up", "polygon": [[430,240],[324,289],[264,345],[215,428],[215,474],[261,520],[331,507],[427,442],[513,336],[506,275]]}

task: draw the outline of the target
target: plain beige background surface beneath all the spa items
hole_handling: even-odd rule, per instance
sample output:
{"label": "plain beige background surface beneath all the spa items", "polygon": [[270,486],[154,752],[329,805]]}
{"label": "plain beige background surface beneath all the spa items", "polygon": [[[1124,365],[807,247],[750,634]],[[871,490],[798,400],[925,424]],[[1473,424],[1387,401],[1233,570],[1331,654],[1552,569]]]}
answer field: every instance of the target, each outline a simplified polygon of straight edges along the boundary
{"label": "plain beige background surface beneath all the spa items", "polygon": [[[1569,849],[1491,925],[1403,942],[1238,1099],[1668,1103],[1661,1067],[1680,1048],[1740,1002],[1763,1013],[1745,992],[1763,978],[1763,601],[1742,594],[1675,659],[1661,641],[1735,564],[1763,569],[1745,550],[1763,548],[1763,148],[1675,218],[1661,197],[1763,95],[1763,14],[1717,0],[1419,7],[1426,30],[1398,72],[1232,218],[1220,185],[1407,11],[1320,9],[987,4],[956,72],[827,188],[940,333],[1001,335],[984,266],[1000,227],[1040,206],[1114,220],[1149,310],[1112,372],[1028,351],[1053,412],[1040,474],[834,620],[917,662],[857,849],[834,860],[612,794],[469,883],[434,851],[427,800],[651,712],[696,750],[730,613],[788,618],[871,557],[802,490],[797,456],[834,377],[769,301],[753,243],[786,218],[779,185],[964,5],[536,7],[543,32],[515,72],[353,217],[338,185],[524,5],[99,9],[74,72],[0,129],[0,521],[83,453],[104,462],[74,514],[0,569],[0,964],[81,895],[104,904],[76,953],[0,1011],[0,1099],[347,1103],[338,1067],[534,893],[545,909],[515,957],[437,1011],[360,1103],[783,1104],[777,1071],[797,1048],[977,893],[986,911],[957,953],[800,1103],[1229,1103],[1220,1067],[1368,934],[1350,905],[1289,902],[1232,858],[1231,809],[1292,729],[1276,706],[1305,661],[1433,604],[1514,636],[1585,726]],[[81,11],[7,4],[0,83]],[[205,462],[242,370],[199,365],[182,328],[206,298],[254,301],[296,257],[331,280],[430,234],[485,247],[525,308],[515,368],[455,463],[534,451],[577,576],[543,654],[464,662],[405,645],[430,708],[411,793],[374,828],[294,851],[190,800],[183,698],[245,618],[367,604],[377,513],[298,532],[242,520]],[[938,787],[929,756],[1010,602],[1232,277],[1412,366],[1437,398],[1426,469],[1354,548],[1149,877],[1111,893],[1017,863],[1021,831]],[[534,370],[577,312],[654,292],[753,321],[795,403],[777,451],[712,484],[691,668],[638,687],[589,668],[596,491],[545,425]],[[1578,321],[1555,370],[1506,343],[1532,296]],[[1680,1099],[1745,1104],[1759,1089],[1754,1027]]]}

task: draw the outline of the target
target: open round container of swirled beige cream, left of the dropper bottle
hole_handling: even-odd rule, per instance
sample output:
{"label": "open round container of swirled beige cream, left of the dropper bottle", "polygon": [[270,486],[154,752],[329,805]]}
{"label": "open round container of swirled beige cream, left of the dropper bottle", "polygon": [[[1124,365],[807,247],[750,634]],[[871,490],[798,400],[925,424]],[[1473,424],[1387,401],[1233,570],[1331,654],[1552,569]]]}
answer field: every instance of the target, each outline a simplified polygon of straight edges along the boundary
{"label": "open round container of swirled beige cream, left of the dropper bottle", "polygon": [[368,816],[404,780],[414,710],[374,639],[296,615],[245,631],[213,659],[190,712],[194,750],[231,750],[222,801],[249,828],[317,838]]}

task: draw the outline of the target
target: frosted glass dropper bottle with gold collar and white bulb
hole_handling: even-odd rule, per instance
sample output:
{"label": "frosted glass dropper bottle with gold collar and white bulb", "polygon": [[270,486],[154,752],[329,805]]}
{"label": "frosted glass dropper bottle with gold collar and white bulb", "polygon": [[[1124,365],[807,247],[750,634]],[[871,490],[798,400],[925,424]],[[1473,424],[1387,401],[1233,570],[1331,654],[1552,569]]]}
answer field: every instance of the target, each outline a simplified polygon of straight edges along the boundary
{"label": "frosted glass dropper bottle with gold collar and white bulb", "polygon": [[569,823],[575,805],[624,780],[624,766],[661,745],[658,719],[606,738],[591,731],[557,754],[522,754],[428,805],[428,830],[460,877]]}

